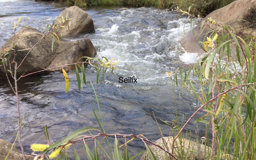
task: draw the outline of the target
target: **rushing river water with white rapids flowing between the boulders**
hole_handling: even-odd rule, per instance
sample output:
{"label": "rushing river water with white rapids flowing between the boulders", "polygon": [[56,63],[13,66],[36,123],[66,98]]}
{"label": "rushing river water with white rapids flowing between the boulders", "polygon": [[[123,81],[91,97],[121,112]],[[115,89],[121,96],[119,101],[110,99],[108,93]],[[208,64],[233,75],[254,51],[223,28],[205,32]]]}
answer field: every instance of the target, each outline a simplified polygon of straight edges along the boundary
{"label": "rushing river water with white rapids flowing between the boulders", "polygon": [[[5,43],[8,35],[13,34],[13,22],[20,16],[22,25],[43,31],[42,27],[51,24],[67,7],[52,2],[1,0],[0,45]],[[175,119],[174,96],[180,120],[184,115],[185,122],[196,108],[197,102],[189,93],[175,87],[173,94],[170,78],[165,74],[181,66],[171,61],[191,62],[197,57],[197,54],[185,52],[181,46],[184,30],[189,31],[186,17],[177,19],[174,11],[162,13],[163,9],[147,7],[122,10],[121,7],[100,6],[82,9],[92,17],[95,33],[80,34],[68,40],[91,39],[97,57],[115,57],[119,61],[116,65],[119,70],[114,71],[114,74],[106,74],[104,81],[96,84],[95,71],[87,66],[88,84],[83,86],[80,93],[73,71],[68,73],[68,93],[65,93],[62,72],[20,80],[20,110],[25,122],[22,141],[27,153],[31,152],[30,144],[46,142],[42,130],[44,125],[49,127],[51,142],[81,127],[99,127],[92,111],[92,99],[95,100],[95,96],[90,81],[99,98],[107,133],[143,134],[154,141],[160,138],[160,132],[152,111],[167,136],[169,126],[159,119]],[[119,83],[119,77],[134,77],[137,83]],[[5,79],[0,80],[0,90],[0,138],[13,142],[17,132],[15,96]],[[193,132],[196,129],[193,122],[186,127],[186,130]],[[199,133],[204,135],[203,126],[199,126]],[[124,143],[123,138],[120,138],[120,142]],[[93,143],[88,142],[91,147]],[[141,141],[134,140],[129,146],[130,155],[143,148]]]}

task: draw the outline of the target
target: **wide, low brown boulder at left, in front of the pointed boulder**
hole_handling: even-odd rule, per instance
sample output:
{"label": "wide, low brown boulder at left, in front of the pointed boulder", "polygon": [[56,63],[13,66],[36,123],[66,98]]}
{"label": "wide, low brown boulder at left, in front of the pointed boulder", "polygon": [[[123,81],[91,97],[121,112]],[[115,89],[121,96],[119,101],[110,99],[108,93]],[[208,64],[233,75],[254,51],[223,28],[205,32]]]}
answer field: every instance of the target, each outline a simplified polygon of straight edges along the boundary
{"label": "wide, low brown boulder at left, in front of the pointed boulder", "polygon": [[[49,35],[44,38],[43,33],[34,28],[23,28],[16,33],[15,38],[15,61],[18,65],[22,62],[24,57],[27,55],[29,50],[17,51],[21,49],[33,48],[31,52],[24,59],[22,65],[18,68],[17,74],[28,74],[47,68],[52,68],[56,66],[67,65],[70,63],[78,62],[78,59],[83,56],[95,57],[96,50],[90,41],[90,39],[81,39],[77,41],[60,40],[60,44],[56,39],[52,51],[52,40]],[[42,39],[41,39],[42,38]],[[41,39],[41,40],[40,40]],[[40,42],[36,44],[38,41]],[[14,42],[14,37],[10,38],[4,45],[3,48],[12,49]],[[10,50],[14,52],[13,50]],[[13,60],[14,54],[10,60]],[[85,59],[80,59],[79,61],[84,61]],[[12,64],[14,65],[14,64]],[[14,67],[12,67],[12,71]],[[63,67],[65,70],[69,71],[74,68],[73,65]],[[61,68],[54,68],[50,71],[60,70]],[[8,70],[8,69],[6,69]],[[4,67],[0,67],[0,77],[5,77]]]}

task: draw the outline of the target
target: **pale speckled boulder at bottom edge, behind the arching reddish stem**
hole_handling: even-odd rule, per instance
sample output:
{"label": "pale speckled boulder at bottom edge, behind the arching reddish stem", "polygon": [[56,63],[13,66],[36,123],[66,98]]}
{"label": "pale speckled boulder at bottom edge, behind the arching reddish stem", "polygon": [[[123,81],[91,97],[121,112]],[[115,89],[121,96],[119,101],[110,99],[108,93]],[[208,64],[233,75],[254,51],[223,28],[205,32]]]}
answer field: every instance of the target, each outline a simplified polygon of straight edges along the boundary
{"label": "pale speckled boulder at bottom edge, behind the arching reddish stem", "polygon": [[[169,151],[172,151],[172,142],[173,142],[173,137],[164,137],[165,139],[165,142],[167,142],[167,146],[168,146],[168,149]],[[158,139],[155,144],[159,145],[159,146],[162,146],[163,148],[166,148],[163,144],[163,140],[162,138]],[[185,148],[185,152],[182,153],[181,150],[184,149],[184,148],[181,148],[180,146],[184,147]],[[176,139],[175,141],[175,145],[174,145],[174,156],[177,157],[178,159],[179,158],[182,158],[182,159],[189,159],[189,160],[196,160],[198,159],[198,155],[197,154],[193,154],[194,152],[197,153],[197,143],[195,143],[194,141],[189,141],[188,139],[186,138],[182,138],[182,140],[179,140],[179,138]],[[200,156],[201,156],[201,160],[203,160],[204,158],[204,151],[205,151],[205,145],[204,144],[201,144],[200,145]],[[162,160],[162,159],[169,159],[167,157],[167,153],[164,152],[163,150],[161,150],[160,148],[156,147],[156,146],[153,146],[151,145],[151,150],[153,152],[153,154],[156,156],[156,159],[158,160]],[[193,152],[190,152],[190,151],[193,151]],[[208,147],[206,147],[206,153],[208,153]],[[179,155],[183,156],[183,157],[180,157]],[[207,155],[207,154],[206,154]],[[140,160],[150,160],[149,156],[147,155],[147,158],[146,158],[146,153],[144,153],[141,157]]]}

